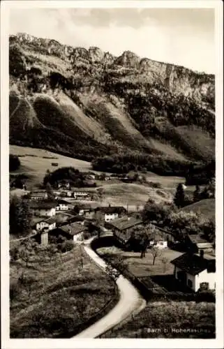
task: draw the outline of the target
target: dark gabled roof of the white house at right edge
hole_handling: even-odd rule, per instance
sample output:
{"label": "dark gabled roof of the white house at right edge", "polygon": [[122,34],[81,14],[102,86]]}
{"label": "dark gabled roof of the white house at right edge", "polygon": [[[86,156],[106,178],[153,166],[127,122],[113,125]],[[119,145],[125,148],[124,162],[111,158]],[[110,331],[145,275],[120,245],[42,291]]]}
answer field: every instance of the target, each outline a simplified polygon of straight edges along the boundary
{"label": "dark gabled roof of the white house at right edge", "polygon": [[207,269],[210,262],[211,260],[192,253],[184,253],[171,261],[173,265],[193,276]]}

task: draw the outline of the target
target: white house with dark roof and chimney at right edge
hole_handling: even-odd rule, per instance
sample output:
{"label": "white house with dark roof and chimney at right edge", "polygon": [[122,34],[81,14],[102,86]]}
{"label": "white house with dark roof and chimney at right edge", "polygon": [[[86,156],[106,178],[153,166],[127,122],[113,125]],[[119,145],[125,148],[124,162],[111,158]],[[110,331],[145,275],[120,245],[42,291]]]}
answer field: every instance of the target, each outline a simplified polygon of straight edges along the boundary
{"label": "white house with dark roof and chimney at right edge", "polygon": [[211,256],[184,253],[171,261],[174,265],[174,277],[184,286],[197,292],[200,288],[214,290],[216,288],[216,260]]}

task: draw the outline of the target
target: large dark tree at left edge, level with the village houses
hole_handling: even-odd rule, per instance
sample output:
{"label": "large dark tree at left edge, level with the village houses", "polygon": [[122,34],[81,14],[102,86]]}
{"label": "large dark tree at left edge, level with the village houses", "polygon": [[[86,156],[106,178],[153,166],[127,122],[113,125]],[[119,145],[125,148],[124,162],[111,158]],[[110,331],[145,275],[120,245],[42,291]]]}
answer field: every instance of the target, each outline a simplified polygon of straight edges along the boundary
{"label": "large dark tree at left edge, level with the village houses", "polygon": [[31,211],[29,202],[16,195],[10,200],[9,209],[10,234],[24,236],[29,233],[31,227]]}

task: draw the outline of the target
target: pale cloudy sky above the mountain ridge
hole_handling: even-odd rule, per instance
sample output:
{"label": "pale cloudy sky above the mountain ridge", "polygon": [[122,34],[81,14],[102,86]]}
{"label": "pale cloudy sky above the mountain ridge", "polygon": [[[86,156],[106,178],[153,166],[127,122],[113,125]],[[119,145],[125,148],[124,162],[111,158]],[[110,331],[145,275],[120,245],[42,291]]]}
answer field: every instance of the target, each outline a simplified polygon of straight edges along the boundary
{"label": "pale cloudy sky above the mountain ridge", "polygon": [[215,73],[214,10],[206,8],[14,8],[10,34],[100,47]]}

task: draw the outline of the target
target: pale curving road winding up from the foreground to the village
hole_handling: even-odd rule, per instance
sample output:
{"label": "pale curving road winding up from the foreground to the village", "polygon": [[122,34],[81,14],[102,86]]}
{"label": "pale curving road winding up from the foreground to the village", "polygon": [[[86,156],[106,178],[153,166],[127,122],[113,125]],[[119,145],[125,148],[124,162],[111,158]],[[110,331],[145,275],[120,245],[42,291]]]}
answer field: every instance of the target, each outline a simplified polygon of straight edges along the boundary
{"label": "pale curving road winding up from the foreground to the village", "polygon": [[[91,248],[84,246],[88,255],[96,262],[102,269],[105,269],[106,263],[100,258]],[[119,302],[114,308],[107,313],[103,318],[95,322],[93,325],[84,329],[73,338],[91,338],[103,334],[103,332],[111,329],[115,325],[119,324],[122,320],[126,319],[128,315],[143,309],[146,302],[141,297],[137,289],[128,281],[124,276],[120,275],[117,279],[117,286],[119,288]]]}

